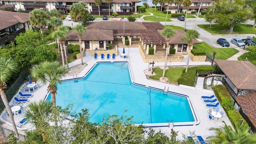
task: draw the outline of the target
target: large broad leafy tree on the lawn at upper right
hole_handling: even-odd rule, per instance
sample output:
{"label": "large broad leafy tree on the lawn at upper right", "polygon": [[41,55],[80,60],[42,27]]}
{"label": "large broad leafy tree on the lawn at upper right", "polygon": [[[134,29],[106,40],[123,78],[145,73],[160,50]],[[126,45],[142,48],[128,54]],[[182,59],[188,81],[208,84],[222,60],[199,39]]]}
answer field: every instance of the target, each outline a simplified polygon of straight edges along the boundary
{"label": "large broad leafy tree on the lawn at upper right", "polygon": [[220,0],[214,3],[214,7],[215,22],[230,26],[228,32],[233,32],[236,24],[244,23],[253,16],[253,10],[244,7],[241,0]]}

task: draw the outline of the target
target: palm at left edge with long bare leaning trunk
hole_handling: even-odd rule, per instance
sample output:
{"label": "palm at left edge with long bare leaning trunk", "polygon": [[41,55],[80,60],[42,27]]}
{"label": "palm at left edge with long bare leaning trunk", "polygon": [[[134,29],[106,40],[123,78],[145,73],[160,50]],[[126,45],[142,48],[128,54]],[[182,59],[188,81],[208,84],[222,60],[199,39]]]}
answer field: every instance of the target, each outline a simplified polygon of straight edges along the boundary
{"label": "palm at left edge with long bare leaning trunk", "polygon": [[18,130],[12,115],[12,110],[4,93],[4,89],[7,88],[6,82],[11,78],[12,74],[17,71],[17,69],[17,64],[13,60],[10,58],[0,57],[0,95],[10,116],[16,138],[19,138]]}

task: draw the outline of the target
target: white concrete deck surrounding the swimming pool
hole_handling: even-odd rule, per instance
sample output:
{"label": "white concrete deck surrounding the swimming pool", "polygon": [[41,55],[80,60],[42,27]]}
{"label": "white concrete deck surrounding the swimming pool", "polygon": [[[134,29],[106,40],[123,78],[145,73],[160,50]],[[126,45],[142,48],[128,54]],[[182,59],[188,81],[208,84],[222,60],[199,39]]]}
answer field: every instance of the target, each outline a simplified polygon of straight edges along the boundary
{"label": "white concrete deck surrounding the swimming pool", "polygon": [[[151,86],[151,87],[158,88],[158,89],[164,89],[164,87],[166,86],[166,88],[169,87],[168,91],[187,95],[191,101],[192,107],[194,108],[194,112],[196,114],[198,121],[193,126],[175,126],[175,123],[174,123],[173,130],[176,132],[178,131],[178,136],[177,136],[178,140],[183,139],[182,134],[186,134],[188,136],[190,134],[190,132],[193,132],[193,131],[195,131],[196,135],[200,135],[204,138],[204,140],[207,140],[206,137],[214,135],[214,131],[210,131],[209,128],[211,128],[211,127],[219,128],[220,126],[223,125],[222,120],[224,120],[226,122],[226,124],[231,125],[230,120],[228,119],[228,117],[226,115],[223,119],[220,119],[220,120],[217,119],[216,121],[212,121],[212,122],[210,119],[207,118],[208,109],[206,108],[205,104],[203,103],[201,96],[211,96],[214,94],[213,91],[197,89],[197,88],[190,87],[190,86],[176,86],[176,85],[167,84],[164,82],[158,82],[155,80],[148,80],[144,73],[144,70],[148,69],[148,63],[143,62],[143,60],[140,56],[140,53],[137,53],[137,52],[130,53],[129,58],[126,58],[126,59],[116,56],[115,60],[112,60],[112,59],[101,60],[100,58],[98,58],[97,60],[94,60],[94,58],[92,56],[85,56],[83,58],[83,60],[88,65],[81,72],[79,71],[80,73],[76,74],[76,76],[78,78],[83,77],[92,68],[92,66],[94,66],[94,64],[96,64],[96,62],[127,61],[127,62],[129,62],[129,66],[131,68],[130,71],[132,71],[131,75],[132,75],[133,82],[142,84],[142,85],[146,85],[146,86]],[[72,67],[72,66],[76,66],[80,63],[81,63],[81,60],[75,60],[74,62],[71,62],[68,65],[70,67]],[[189,63],[190,66],[192,66],[192,65],[210,65],[210,64],[211,64],[210,62],[192,62],[191,60]],[[164,62],[156,62],[154,64],[154,66],[164,66]],[[167,66],[186,66],[186,62],[167,62]],[[152,67],[152,65],[150,67]],[[75,70],[75,68],[73,70]],[[104,74],[104,73],[102,73],[102,74]],[[74,76],[66,76],[65,78],[63,78],[63,80],[72,79],[72,78],[74,78]],[[40,82],[39,82],[39,84],[40,84]],[[42,84],[40,84],[39,86],[40,86],[39,90],[35,90],[35,92],[32,93],[34,96],[31,99],[29,99],[29,102],[39,101],[39,100],[42,100],[45,98],[45,96],[47,94],[47,86],[42,86]],[[22,89],[22,87],[21,87],[21,89]],[[20,90],[20,91],[23,92],[23,90]],[[11,103],[12,102],[10,102],[10,104]],[[24,105],[24,106],[26,109],[26,105]],[[223,110],[223,108],[220,108],[220,111],[221,110]],[[2,121],[10,124],[10,119],[8,119],[5,112],[6,112],[6,110],[4,110],[4,112],[0,115],[0,118]],[[22,116],[14,116],[14,120],[15,120],[16,124],[18,124],[18,122],[21,119],[22,119]],[[170,118],[170,120],[171,119],[172,118]],[[172,126],[170,126],[170,128],[169,127],[155,127],[153,129],[155,130],[155,132],[158,132],[159,130],[161,130],[161,132],[164,132],[167,136],[170,136],[171,128],[172,128]],[[33,129],[33,128],[29,123],[26,123],[23,128],[18,128],[18,129],[27,130],[27,129]]]}

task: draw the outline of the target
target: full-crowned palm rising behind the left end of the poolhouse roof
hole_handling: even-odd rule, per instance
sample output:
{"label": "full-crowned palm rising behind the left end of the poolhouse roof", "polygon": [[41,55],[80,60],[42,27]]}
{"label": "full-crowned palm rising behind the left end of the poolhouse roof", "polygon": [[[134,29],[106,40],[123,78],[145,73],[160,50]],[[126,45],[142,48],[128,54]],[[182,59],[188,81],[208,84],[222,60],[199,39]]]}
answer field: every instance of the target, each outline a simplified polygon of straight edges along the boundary
{"label": "full-crowned palm rising behind the left end of the poolhouse roof", "polygon": [[88,12],[88,10],[86,9],[87,9],[87,5],[82,1],[73,3],[73,5],[70,7],[70,16],[72,20],[80,24],[81,20],[83,20],[84,16]]}

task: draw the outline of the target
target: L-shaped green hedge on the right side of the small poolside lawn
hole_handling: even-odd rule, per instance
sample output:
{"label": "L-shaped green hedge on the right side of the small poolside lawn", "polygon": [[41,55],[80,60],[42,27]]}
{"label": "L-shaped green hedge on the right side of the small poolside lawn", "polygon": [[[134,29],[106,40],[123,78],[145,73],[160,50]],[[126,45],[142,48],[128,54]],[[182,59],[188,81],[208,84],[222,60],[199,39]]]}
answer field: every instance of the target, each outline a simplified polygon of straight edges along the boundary
{"label": "L-shaped green hedge on the right side of the small poolside lawn", "polygon": [[186,86],[194,86],[194,80],[196,76],[196,72],[208,72],[211,70],[215,70],[215,66],[194,66],[188,68],[188,71],[183,71],[183,74],[178,79],[178,84],[183,84]]}

